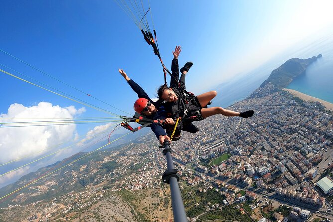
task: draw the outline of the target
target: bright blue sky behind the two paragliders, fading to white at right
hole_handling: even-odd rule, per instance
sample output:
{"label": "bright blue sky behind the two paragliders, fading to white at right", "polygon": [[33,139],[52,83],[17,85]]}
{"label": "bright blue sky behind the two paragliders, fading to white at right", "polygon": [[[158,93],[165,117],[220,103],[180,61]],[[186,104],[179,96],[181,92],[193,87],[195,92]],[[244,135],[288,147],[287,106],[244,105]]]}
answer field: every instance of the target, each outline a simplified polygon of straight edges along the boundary
{"label": "bright blue sky behind the two paragliders, fading to white at right", "polygon": [[[143,2],[148,8],[148,2]],[[194,62],[186,81],[187,89],[195,94],[259,67],[296,43],[301,44],[306,38],[315,39],[319,32],[329,30],[333,24],[331,1],[165,0],[151,1],[150,5],[165,65],[170,68],[171,51],[176,45],[182,46],[180,66],[187,61]],[[115,1],[7,0],[1,2],[0,21],[0,49],[126,112],[133,113],[136,94],[120,76],[118,68],[124,69],[150,96],[155,95],[156,88],[163,84],[157,56]],[[0,63],[96,106],[128,115],[2,52]],[[0,68],[15,73],[2,65]],[[58,116],[66,112],[65,115],[71,118],[110,116],[3,73],[0,73],[0,82],[2,118],[9,114],[8,108],[15,103],[22,106],[13,106],[11,117],[25,110],[21,116],[34,113],[35,118],[42,118],[46,108],[48,113],[54,112]],[[75,108],[66,108],[69,106]],[[39,110],[40,114],[32,108]],[[64,130],[53,129],[40,130],[34,136],[47,134],[45,141],[37,139],[36,143],[41,143],[40,147],[48,147],[51,141],[56,142],[60,138],[71,141],[74,137],[84,136],[89,130],[92,133],[98,131],[94,129],[98,125],[68,128],[66,136],[61,134]],[[24,130],[0,130],[0,137],[29,144],[30,137],[27,135],[30,134]],[[29,133],[34,130],[29,129]],[[0,150],[13,151],[19,156],[22,150],[16,150],[14,146],[14,143],[2,142]],[[23,151],[29,153],[36,150]],[[15,156],[11,154],[1,161]],[[0,186],[4,182],[0,181]]]}

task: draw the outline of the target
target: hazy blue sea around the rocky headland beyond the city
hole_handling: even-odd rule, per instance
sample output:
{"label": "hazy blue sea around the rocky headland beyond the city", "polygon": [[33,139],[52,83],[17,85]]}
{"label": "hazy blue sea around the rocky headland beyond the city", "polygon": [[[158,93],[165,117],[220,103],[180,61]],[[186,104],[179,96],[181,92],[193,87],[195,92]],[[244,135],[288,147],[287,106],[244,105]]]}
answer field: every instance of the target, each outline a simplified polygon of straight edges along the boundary
{"label": "hazy blue sea around the rocky headland beyond the city", "polygon": [[333,33],[298,45],[276,56],[265,64],[251,70],[238,78],[215,87],[218,96],[212,106],[228,107],[245,99],[255,91],[271,72],[291,58],[307,59],[322,54],[308,66],[305,74],[295,78],[287,88],[317,97],[333,103]]}

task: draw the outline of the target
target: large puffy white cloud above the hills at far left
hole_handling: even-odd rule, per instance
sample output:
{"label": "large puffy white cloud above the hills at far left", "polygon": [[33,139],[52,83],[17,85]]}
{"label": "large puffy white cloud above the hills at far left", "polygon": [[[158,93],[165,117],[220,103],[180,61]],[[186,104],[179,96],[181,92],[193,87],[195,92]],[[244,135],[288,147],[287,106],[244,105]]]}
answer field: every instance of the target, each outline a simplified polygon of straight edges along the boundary
{"label": "large puffy white cloud above the hills at far left", "polygon": [[[74,106],[53,106],[48,102],[25,107],[12,104],[7,114],[0,114],[0,124],[4,122],[48,121],[59,118],[73,119],[75,115],[85,111]],[[15,120],[13,120],[15,119]],[[23,125],[23,124],[18,124]],[[3,125],[7,126],[7,125]],[[5,163],[26,155],[45,150],[50,146],[67,142],[76,134],[76,125],[33,126],[2,128],[0,130],[0,163]],[[40,154],[40,153],[39,153]]]}

